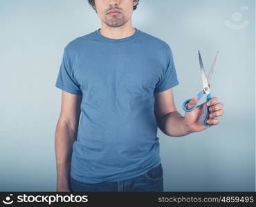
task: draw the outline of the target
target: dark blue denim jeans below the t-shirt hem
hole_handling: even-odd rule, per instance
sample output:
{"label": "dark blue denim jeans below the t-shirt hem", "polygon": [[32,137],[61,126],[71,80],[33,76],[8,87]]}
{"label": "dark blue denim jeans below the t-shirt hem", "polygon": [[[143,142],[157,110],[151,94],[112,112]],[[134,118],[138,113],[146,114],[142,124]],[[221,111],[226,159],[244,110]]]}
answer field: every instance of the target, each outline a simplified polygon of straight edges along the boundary
{"label": "dark blue denim jeans below the t-shirt hem", "polygon": [[71,191],[158,191],[163,192],[162,165],[150,169],[143,175],[122,181],[104,181],[98,184],[86,184],[70,177]]}

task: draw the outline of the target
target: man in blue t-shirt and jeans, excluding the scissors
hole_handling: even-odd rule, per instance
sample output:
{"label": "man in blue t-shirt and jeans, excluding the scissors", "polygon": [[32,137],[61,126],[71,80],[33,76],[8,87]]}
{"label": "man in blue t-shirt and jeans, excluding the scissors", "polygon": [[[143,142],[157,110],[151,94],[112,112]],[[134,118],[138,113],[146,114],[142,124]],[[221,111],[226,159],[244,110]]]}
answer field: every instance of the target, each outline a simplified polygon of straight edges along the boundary
{"label": "man in blue t-shirt and jeans, excluding the scissors", "polygon": [[[172,137],[207,128],[201,124],[205,103],[185,117],[177,112],[172,50],[131,26],[138,2],[89,0],[102,28],[64,48],[55,84],[62,89],[57,191],[163,191],[157,126]],[[217,102],[210,100],[206,122],[212,126],[223,115]],[[196,96],[188,109],[194,103]]]}

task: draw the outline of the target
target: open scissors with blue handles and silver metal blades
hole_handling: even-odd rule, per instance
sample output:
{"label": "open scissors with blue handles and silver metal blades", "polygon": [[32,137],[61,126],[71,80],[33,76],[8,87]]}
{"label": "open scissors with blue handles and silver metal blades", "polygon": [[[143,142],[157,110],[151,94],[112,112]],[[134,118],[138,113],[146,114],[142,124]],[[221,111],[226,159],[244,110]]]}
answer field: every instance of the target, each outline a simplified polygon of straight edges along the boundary
{"label": "open scissors with blue handles and silver metal blades", "polygon": [[200,63],[201,79],[202,79],[202,82],[203,82],[203,90],[201,90],[201,92],[199,92],[199,94],[196,95],[197,96],[197,101],[194,104],[194,106],[192,108],[190,108],[189,110],[187,109],[187,105],[188,105],[188,102],[190,102],[190,100],[192,100],[192,99],[188,99],[188,100],[184,101],[183,102],[183,110],[185,110],[185,112],[190,112],[190,111],[194,110],[194,108],[196,108],[196,105],[199,102],[199,100],[201,99],[201,97],[203,97],[203,94],[206,94],[207,95],[207,97],[206,97],[206,106],[205,106],[205,113],[204,113],[204,116],[203,116],[202,124],[203,124],[203,126],[210,126],[211,124],[205,124],[205,121],[208,117],[207,103],[212,98],[212,96],[210,94],[210,81],[211,81],[213,73],[214,73],[214,68],[215,68],[215,64],[216,64],[216,60],[217,60],[217,56],[219,54],[219,51],[217,51],[217,54],[214,58],[214,61],[213,61],[212,66],[210,68],[210,72],[208,74],[207,79],[206,79],[205,70],[204,70],[204,67],[203,67],[203,61],[202,61],[202,58],[201,58],[200,51],[198,51],[198,52],[199,52],[199,63]]}

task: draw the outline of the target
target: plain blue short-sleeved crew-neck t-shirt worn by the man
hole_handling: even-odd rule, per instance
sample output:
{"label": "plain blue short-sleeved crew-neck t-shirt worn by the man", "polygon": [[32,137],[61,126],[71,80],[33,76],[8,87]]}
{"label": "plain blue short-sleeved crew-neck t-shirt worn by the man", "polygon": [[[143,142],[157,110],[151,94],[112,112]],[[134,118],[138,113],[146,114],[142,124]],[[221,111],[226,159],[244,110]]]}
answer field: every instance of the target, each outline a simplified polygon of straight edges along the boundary
{"label": "plain blue short-sleeved crew-neck t-shirt worn by the man", "polygon": [[122,39],[100,29],[64,48],[55,86],[82,95],[71,177],[95,184],[161,164],[154,93],[179,84],[170,46],[136,28]]}

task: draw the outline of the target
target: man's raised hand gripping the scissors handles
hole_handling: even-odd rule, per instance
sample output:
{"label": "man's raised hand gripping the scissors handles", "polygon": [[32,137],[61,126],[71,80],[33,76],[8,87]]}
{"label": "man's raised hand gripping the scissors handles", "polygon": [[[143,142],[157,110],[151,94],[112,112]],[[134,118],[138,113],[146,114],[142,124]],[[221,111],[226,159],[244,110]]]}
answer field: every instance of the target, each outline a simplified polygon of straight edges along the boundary
{"label": "man's raised hand gripping the scissors handles", "polygon": [[[194,104],[197,101],[197,97],[194,96],[193,99],[188,103],[188,110],[194,106]],[[217,103],[218,99],[217,97],[212,97],[210,101],[208,101],[208,117],[205,121],[205,124],[211,124],[211,126],[219,124],[219,119],[216,119],[216,117],[220,117],[223,115],[224,111],[223,103]],[[196,106],[194,110],[191,112],[185,112],[185,117],[183,120],[183,126],[188,132],[199,132],[202,130],[205,130],[206,128],[209,128],[211,126],[203,126],[202,120],[205,113],[205,103],[202,103],[199,106]]]}

